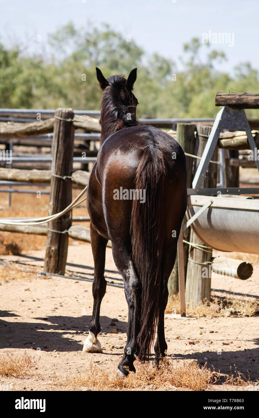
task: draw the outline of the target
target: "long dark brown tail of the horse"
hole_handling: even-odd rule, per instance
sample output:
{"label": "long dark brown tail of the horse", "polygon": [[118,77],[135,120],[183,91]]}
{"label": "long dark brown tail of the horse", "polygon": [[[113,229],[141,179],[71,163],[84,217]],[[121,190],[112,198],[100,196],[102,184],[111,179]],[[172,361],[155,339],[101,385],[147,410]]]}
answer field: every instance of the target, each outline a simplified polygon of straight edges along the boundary
{"label": "long dark brown tail of the horse", "polygon": [[141,285],[137,355],[149,359],[154,341],[162,283],[164,243],[163,194],[166,168],[161,150],[148,145],[136,171],[136,191],[145,190],[146,201],[133,200],[131,213],[132,257]]}

